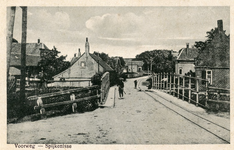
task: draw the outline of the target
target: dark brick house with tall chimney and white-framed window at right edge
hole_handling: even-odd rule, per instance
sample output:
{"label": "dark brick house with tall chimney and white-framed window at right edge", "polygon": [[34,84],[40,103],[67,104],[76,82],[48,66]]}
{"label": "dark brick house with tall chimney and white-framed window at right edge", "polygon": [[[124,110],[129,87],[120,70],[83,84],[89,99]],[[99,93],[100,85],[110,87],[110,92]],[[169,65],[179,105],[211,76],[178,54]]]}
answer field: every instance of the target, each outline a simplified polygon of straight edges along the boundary
{"label": "dark brick house with tall chimney and white-framed window at right edge", "polygon": [[[217,21],[214,37],[198,55],[196,76],[208,79],[210,86],[230,88],[230,37],[223,30],[223,21]],[[204,84],[202,82],[201,84]]]}

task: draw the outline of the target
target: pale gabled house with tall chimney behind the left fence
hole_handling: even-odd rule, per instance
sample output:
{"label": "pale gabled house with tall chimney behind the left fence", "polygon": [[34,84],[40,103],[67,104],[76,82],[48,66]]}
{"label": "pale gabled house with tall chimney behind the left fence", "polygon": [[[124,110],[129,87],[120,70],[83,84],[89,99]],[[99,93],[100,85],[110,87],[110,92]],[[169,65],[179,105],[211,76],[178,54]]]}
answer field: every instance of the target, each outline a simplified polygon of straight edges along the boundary
{"label": "pale gabled house with tall chimney behind the left fence", "polygon": [[[78,52],[78,56],[74,55],[71,60],[71,66],[65,71],[55,75],[54,80],[60,80],[61,78],[66,81],[69,80],[87,80],[91,79],[93,75],[96,73],[104,73],[104,72],[113,72],[114,70],[104,62],[100,57],[95,54],[90,53],[90,47],[88,38],[86,38],[85,43],[85,52],[79,56],[80,50]],[[59,83],[60,86],[65,86],[64,83]],[[72,86],[88,86],[88,82],[80,82],[77,84],[72,84]]]}

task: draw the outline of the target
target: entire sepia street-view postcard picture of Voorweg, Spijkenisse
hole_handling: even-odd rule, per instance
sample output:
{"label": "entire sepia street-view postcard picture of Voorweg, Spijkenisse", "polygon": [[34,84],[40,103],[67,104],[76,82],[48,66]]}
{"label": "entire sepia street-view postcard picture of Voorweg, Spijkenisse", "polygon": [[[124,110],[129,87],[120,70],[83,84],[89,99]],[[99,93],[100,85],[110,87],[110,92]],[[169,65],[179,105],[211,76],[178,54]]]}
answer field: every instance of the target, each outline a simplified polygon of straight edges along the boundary
{"label": "entire sepia street-view postcard picture of Voorweg, Spijkenisse", "polygon": [[5,10],[11,148],[231,144],[230,6]]}

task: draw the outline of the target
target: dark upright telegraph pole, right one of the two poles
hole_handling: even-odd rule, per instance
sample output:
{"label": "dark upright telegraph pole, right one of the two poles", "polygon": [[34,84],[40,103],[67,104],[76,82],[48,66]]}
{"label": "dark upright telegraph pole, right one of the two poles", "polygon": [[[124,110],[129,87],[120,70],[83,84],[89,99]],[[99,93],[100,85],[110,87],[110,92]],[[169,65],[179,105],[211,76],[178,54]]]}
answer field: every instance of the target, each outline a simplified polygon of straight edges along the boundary
{"label": "dark upright telegraph pole, right one of the two poles", "polygon": [[27,39],[27,7],[22,8],[22,37],[21,37],[21,76],[20,100],[25,102],[25,70],[26,70],[26,39]]}

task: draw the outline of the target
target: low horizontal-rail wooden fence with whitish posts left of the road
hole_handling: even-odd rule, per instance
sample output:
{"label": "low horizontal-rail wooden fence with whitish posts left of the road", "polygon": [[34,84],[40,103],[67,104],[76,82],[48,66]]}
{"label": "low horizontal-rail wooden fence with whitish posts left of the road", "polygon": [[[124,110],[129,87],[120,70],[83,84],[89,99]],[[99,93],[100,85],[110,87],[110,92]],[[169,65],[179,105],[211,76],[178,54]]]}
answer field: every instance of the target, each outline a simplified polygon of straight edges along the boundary
{"label": "low horizontal-rail wooden fence with whitish posts left of the road", "polygon": [[27,98],[27,106],[29,111],[31,109],[32,112],[34,108],[40,110],[41,114],[45,113],[45,109],[55,109],[55,107],[59,107],[56,109],[69,109],[70,107],[73,112],[76,108],[83,111],[96,107],[99,99],[98,91],[98,86],[89,86],[30,96]]}

